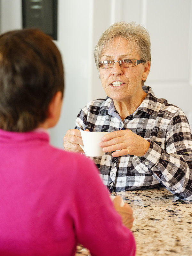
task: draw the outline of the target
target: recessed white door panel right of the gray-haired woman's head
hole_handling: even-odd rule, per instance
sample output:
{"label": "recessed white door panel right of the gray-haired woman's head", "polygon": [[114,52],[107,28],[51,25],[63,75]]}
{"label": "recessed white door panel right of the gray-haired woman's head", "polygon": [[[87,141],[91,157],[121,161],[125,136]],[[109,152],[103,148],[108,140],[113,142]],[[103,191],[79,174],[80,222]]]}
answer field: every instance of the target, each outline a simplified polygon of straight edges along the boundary
{"label": "recessed white door panel right of the gray-haired woman's head", "polygon": [[146,28],[151,37],[148,81],[187,81],[191,1],[147,2]]}

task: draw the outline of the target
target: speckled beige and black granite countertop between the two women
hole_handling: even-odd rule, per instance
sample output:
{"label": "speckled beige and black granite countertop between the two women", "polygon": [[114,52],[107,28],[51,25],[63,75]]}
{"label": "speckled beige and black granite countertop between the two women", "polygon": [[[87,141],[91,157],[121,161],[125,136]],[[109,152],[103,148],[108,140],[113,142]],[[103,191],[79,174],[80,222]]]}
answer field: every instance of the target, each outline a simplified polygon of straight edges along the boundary
{"label": "speckled beige and black granite countertop between the two women", "polygon": [[[192,201],[162,187],[112,194],[122,196],[133,209],[136,256],[192,255]],[[91,254],[77,246],[77,255]]]}

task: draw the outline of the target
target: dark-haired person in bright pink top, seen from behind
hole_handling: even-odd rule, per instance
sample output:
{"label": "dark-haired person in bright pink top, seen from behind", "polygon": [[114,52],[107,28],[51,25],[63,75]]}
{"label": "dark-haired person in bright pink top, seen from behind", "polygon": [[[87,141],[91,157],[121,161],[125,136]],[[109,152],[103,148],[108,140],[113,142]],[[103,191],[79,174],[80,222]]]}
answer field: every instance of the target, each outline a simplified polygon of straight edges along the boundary
{"label": "dark-haired person in bright pink top, seen from behind", "polygon": [[94,164],[49,144],[63,76],[49,36],[0,36],[0,255],[69,256],[81,243],[95,256],[132,256],[131,207],[114,200],[121,220]]}

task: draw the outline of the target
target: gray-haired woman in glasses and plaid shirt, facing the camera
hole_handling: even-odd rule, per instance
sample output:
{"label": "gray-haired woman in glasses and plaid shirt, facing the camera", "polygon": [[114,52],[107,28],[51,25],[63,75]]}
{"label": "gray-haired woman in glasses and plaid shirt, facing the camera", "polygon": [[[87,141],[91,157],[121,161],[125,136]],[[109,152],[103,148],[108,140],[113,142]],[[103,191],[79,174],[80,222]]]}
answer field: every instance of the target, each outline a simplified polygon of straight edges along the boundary
{"label": "gray-haired woman in glasses and plaid shirt, facing the camera", "polygon": [[192,135],[183,111],[157,99],[144,83],[151,65],[150,37],[141,25],[115,23],[94,50],[106,99],[89,102],[68,130],[64,147],[82,152],[79,129],[110,132],[94,157],[109,191],[154,188],[159,183],[192,199]]}

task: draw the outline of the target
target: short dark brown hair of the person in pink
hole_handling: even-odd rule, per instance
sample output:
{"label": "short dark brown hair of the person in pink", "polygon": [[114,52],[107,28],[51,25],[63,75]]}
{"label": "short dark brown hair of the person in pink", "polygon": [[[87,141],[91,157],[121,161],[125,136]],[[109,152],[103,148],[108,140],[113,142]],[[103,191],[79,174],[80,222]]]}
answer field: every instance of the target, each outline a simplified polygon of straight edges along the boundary
{"label": "short dark brown hair of the person in pink", "polygon": [[38,29],[0,36],[0,128],[27,132],[45,121],[56,92],[64,90],[60,52]]}

